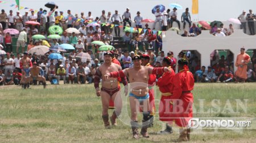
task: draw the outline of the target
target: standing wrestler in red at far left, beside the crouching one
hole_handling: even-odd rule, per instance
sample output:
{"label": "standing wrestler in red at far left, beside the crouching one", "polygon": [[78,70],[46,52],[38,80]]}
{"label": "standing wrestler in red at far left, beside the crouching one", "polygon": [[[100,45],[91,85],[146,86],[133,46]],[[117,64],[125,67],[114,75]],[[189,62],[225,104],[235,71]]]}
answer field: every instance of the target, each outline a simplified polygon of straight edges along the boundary
{"label": "standing wrestler in red at far left, beside the crouching one", "polygon": [[19,60],[20,69],[22,70],[22,79],[20,80],[20,84],[22,88],[26,89],[26,79],[29,75],[29,68],[32,67],[31,59],[27,57],[28,53],[25,51],[23,53],[23,58]]}

